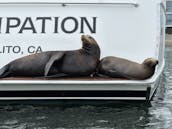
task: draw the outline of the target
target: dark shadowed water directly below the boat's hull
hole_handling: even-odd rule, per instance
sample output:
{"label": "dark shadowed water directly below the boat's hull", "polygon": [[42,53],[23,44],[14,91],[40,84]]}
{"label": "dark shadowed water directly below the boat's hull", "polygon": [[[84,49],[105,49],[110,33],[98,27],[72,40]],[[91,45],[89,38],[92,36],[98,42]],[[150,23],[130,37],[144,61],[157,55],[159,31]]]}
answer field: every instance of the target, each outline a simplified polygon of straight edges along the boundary
{"label": "dark shadowed water directly below the boat's hull", "polygon": [[110,106],[1,106],[2,129],[134,129],[144,127],[147,108],[144,105]]}

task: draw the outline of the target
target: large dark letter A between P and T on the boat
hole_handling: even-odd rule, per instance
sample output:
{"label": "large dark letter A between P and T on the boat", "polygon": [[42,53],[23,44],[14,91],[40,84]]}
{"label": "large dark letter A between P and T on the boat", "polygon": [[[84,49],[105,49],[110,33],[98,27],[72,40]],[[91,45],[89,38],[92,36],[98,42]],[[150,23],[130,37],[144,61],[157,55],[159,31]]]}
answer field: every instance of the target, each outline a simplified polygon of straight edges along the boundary
{"label": "large dark letter A between P and T on the boat", "polygon": [[[27,23],[29,24],[29,26],[26,26]],[[33,33],[36,33],[36,29],[33,25],[31,17],[26,17],[19,33],[23,33],[24,30],[31,30]]]}

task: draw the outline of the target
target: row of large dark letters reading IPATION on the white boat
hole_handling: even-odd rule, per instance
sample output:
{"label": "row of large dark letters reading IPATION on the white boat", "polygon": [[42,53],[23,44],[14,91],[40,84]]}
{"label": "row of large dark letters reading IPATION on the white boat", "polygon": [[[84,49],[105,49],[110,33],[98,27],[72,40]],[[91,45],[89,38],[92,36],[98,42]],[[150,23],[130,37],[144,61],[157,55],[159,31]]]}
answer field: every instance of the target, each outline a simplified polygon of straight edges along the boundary
{"label": "row of large dark letters reading IPATION on the white boat", "polygon": [[[52,21],[53,20],[53,21]],[[40,22],[40,33],[46,33],[46,30],[52,30],[53,33],[59,33],[59,29],[62,32],[71,34],[76,32],[80,27],[80,33],[86,33],[90,31],[90,33],[96,33],[96,24],[97,17],[80,17],[80,19],[69,16],[60,19],[60,17],[36,17],[36,21]],[[10,33],[12,29],[19,29],[18,33],[24,33],[24,31],[28,30],[32,33],[37,33],[39,28],[36,28],[32,17],[26,17],[23,21],[21,21],[18,17],[7,17],[6,19],[6,33]],[[3,17],[0,17],[0,33],[2,33],[2,22],[4,22]],[[53,22],[53,23],[52,23]],[[71,23],[72,22],[72,23]],[[48,28],[48,23],[54,25],[54,28]],[[71,23],[71,25],[69,25]],[[60,28],[61,27],[61,28]]]}

